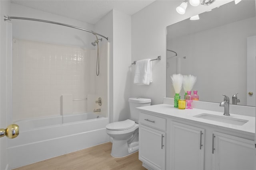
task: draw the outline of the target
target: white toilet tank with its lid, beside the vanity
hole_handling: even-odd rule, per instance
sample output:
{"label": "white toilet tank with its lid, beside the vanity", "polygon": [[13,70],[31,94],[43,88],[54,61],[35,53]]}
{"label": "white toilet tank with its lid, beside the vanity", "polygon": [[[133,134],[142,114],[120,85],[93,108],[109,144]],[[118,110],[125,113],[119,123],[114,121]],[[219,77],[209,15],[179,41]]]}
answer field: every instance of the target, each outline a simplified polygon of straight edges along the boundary
{"label": "white toilet tank with its lid, beside the vanity", "polygon": [[130,119],[138,123],[139,121],[139,110],[136,107],[150,106],[151,99],[146,98],[129,98],[130,104]]}

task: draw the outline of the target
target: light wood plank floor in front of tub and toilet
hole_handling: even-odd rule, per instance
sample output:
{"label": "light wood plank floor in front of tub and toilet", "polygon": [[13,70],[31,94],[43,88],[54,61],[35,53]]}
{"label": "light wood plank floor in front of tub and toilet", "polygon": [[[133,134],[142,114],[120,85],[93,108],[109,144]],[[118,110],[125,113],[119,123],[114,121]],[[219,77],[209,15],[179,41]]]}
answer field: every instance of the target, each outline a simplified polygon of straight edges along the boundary
{"label": "light wood plank floor in front of tub and toilet", "polygon": [[114,158],[110,155],[111,147],[112,143],[104,143],[15,170],[146,170],[138,159],[138,152]]}

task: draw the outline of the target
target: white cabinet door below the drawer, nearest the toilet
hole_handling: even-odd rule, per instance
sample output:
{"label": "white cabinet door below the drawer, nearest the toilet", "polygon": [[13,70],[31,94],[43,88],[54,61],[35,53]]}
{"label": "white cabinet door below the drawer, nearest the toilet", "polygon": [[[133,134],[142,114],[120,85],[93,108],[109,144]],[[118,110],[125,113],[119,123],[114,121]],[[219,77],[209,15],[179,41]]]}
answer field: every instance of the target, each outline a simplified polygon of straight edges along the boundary
{"label": "white cabinet door below the drawer, nearest the toilet", "polygon": [[140,125],[139,159],[156,170],[165,169],[165,133]]}

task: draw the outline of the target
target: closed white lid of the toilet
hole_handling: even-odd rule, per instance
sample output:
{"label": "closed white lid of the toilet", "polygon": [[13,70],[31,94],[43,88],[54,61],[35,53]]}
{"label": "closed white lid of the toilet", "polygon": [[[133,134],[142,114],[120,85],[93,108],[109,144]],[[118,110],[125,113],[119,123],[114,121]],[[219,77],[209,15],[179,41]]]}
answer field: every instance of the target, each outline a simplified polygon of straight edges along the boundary
{"label": "closed white lid of the toilet", "polygon": [[127,119],[125,121],[117,121],[117,122],[109,123],[108,125],[106,125],[106,128],[109,130],[120,131],[120,130],[130,129],[134,127],[134,125],[135,125],[135,121]]}

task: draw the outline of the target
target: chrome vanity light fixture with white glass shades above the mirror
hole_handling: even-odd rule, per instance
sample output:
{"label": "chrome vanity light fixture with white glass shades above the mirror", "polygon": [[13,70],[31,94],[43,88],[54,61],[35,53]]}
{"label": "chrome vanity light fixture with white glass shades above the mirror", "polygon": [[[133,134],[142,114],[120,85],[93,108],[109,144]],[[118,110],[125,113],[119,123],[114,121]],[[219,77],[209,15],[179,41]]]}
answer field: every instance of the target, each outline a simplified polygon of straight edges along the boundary
{"label": "chrome vanity light fixture with white glass shades above the mirror", "polygon": [[[192,6],[198,6],[199,4],[202,5],[210,5],[212,4],[212,2],[214,2],[215,0],[189,0],[190,5]],[[178,6],[176,8],[176,11],[179,14],[185,14],[186,12],[186,8],[188,7],[188,0],[183,1],[180,6]]]}

